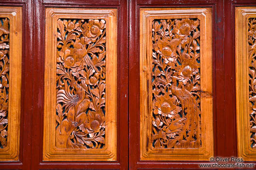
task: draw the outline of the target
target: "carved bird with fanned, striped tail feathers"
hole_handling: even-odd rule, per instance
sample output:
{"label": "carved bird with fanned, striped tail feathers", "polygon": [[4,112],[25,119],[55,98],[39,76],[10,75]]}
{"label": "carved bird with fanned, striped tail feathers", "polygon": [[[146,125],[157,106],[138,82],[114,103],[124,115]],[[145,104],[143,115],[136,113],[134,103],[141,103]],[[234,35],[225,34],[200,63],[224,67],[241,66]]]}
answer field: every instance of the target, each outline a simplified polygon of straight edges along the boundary
{"label": "carved bird with fanned, striped tail feathers", "polygon": [[[62,107],[65,107],[66,112],[68,112],[71,107],[74,108],[74,123],[76,122],[77,116],[84,112],[90,105],[90,100],[85,99],[85,90],[77,82],[73,83],[73,86],[76,90],[76,94],[73,95],[70,93],[70,90],[58,90],[57,92],[57,104],[63,103]],[[68,92],[67,92],[68,91]]]}

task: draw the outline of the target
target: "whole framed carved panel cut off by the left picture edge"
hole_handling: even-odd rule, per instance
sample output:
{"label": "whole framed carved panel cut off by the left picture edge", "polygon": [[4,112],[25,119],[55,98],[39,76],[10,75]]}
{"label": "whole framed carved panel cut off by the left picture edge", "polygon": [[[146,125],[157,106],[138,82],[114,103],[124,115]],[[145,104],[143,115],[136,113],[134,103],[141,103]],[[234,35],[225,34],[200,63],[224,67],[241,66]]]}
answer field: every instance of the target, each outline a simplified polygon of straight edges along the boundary
{"label": "whole framed carved panel cut off by the left picture edge", "polygon": [[22,8],[0,9],[0,161],[19,159]]}

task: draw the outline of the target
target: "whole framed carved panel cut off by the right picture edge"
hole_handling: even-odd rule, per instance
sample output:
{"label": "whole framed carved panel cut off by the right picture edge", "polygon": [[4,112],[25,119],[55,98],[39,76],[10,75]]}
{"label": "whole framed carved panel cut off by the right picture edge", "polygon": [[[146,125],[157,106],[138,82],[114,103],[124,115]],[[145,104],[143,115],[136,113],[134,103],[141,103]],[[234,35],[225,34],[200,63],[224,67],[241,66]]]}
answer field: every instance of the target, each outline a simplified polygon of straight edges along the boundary
{"label": "whole framed carved panel cut off by the right picture edge", "polygon": [[256,159],[256,7],[236,8],[238,156]]}

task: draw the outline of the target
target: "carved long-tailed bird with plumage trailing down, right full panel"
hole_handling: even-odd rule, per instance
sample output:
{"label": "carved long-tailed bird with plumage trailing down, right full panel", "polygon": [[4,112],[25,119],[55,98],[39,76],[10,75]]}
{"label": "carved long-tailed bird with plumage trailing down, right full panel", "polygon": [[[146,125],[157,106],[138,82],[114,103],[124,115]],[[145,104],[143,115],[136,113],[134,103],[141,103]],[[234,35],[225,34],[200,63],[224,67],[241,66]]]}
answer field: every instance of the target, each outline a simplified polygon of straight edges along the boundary
{"label": "carved long-tailed bird with plumage trailing down, right full panel", "polygon": [[[172,86],[171,86],[171,92],[173,95],[175,95],[182,105],[182,111],[183,111],[183,118],[186,118],[186,123],[183,132],[186,130],[190,130],[188,132],[188,142],[193,141],[193,133],[196,132],[196,145],[199,147],[200,145],[200,128],[199,128],[199,122],[200,122],[200,110],[198,108],[198,103],[194,96],[185,89],[183,86],[182,88],[179,88],[175,86],[177,84],[177,77],[172,77]],[[187,114],[184,115],[184,110],[186,110]],[[191,125],[191,126],[190,126]],[[190,127],[189,127],[190,126]]]}

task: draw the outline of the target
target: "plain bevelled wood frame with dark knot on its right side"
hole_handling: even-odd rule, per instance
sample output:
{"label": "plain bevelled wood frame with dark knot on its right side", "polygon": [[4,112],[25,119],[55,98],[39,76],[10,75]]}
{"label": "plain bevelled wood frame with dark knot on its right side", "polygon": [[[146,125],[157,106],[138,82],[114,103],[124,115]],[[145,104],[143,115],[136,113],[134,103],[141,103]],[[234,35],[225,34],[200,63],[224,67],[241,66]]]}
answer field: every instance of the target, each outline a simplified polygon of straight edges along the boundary
{"label": "plain bevelled wood frame with dark knot on its right side", "polygon": [[[200,20],[200,148],[153,148],[152,131],[152,22],[155,19],[198,18]],[[212,8],[140,9],[140,158],[141,160],[209,160],[213,157],[213,61]]]}

